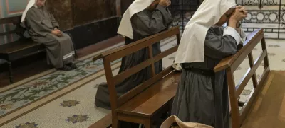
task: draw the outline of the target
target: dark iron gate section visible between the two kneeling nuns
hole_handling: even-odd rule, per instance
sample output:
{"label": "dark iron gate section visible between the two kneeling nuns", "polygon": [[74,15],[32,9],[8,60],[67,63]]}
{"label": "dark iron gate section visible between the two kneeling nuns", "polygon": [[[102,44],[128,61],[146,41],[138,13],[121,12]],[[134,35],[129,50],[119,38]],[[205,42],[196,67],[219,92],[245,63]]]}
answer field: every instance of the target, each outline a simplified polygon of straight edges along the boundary
{"label": "dark iron gate section visible between the two kneeling nuns", "polygon": [[174,18],[172,25],[179,25],[182,33],[185,25],[201,3],[202,0],[171,0],[171,5],[168,8]]}

